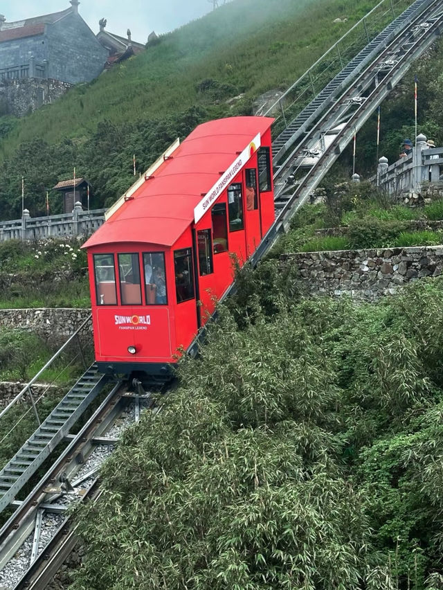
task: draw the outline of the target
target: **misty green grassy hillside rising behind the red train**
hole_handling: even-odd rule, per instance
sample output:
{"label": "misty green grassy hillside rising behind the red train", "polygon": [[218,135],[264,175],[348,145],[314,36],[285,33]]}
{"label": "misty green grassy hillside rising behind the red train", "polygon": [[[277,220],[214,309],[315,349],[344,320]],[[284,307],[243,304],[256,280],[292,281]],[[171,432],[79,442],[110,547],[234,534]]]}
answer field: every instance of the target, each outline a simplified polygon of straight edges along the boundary
{"label": "misty green grassy hillside rising behind the red train", "polygon": [[[93,185],[92,206],[113,202],[132,184],[134,153],[145,170],[198,123],[251,113],[253,99],[286,88],[370,8],[364,0],[235,0],[54,105],[0,118],[0,218],[19,216],[22,175],[26,207],[44,214],[46,190],[74,166]],[[347,22],[334,24],[337,17]],[[50,203],[60,211],[60,195]]]}

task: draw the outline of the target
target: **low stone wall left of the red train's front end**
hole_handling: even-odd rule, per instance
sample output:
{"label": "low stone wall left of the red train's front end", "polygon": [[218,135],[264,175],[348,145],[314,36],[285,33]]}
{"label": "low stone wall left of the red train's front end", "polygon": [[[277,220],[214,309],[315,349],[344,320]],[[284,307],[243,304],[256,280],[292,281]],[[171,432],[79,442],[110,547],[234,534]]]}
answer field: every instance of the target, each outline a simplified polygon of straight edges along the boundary
{"label": "low stone wall left of the red train's front end", "polygon": [[28,310],[0,310],[0,328],[19,328],[54,336],[71,336],[91,310],[53,307]]}

